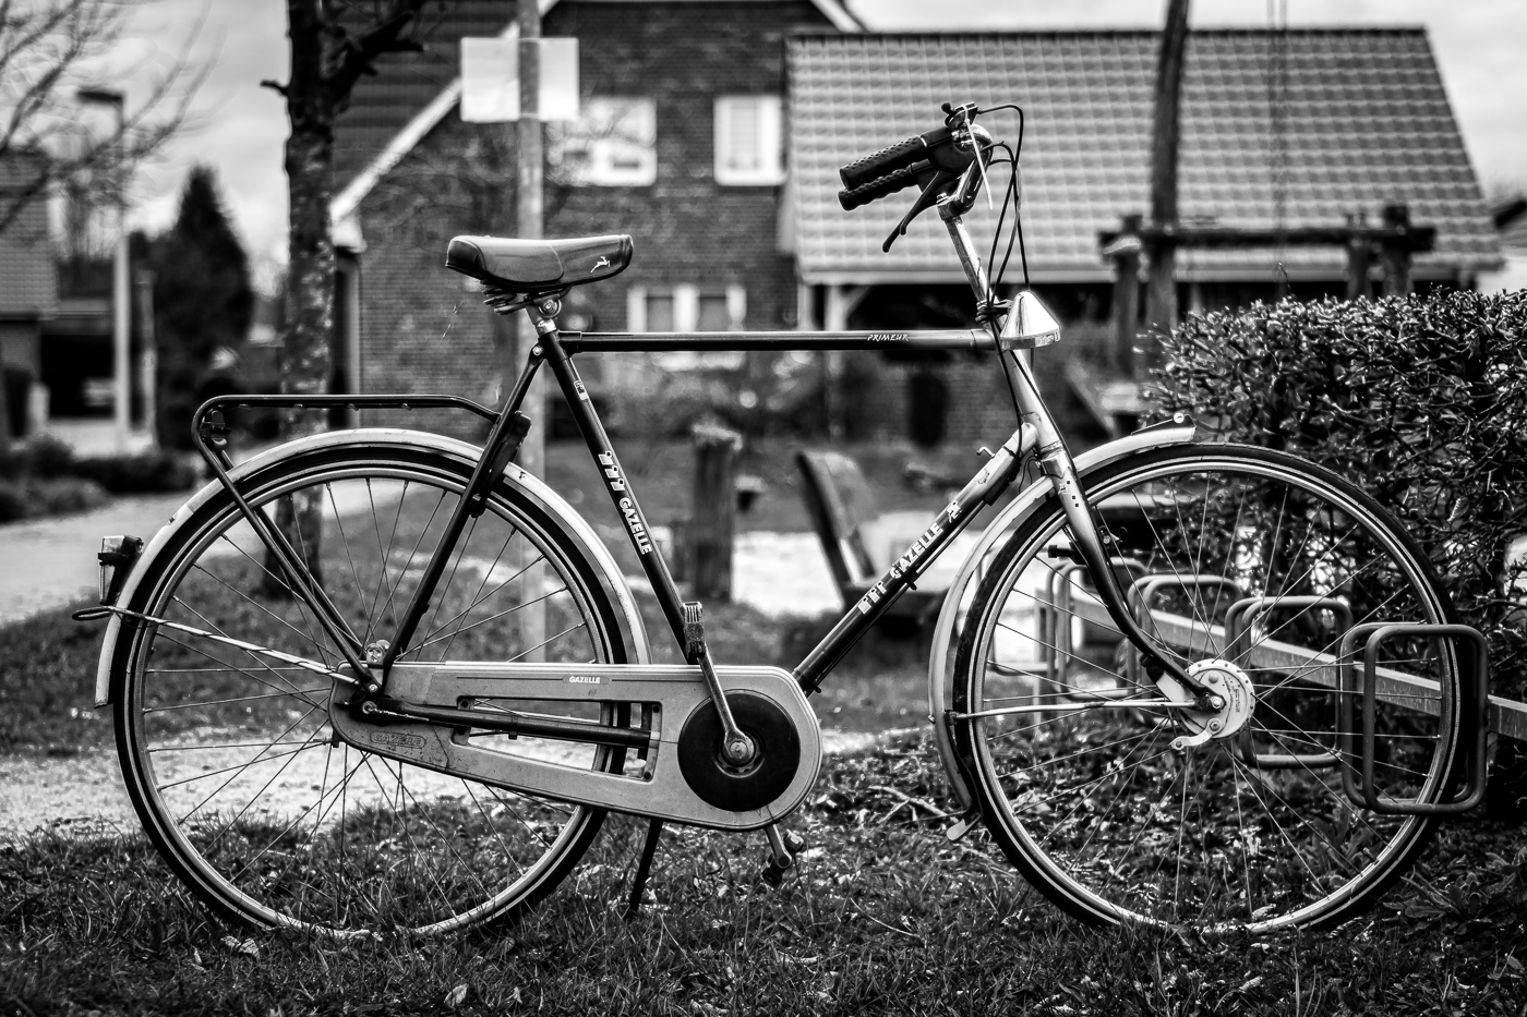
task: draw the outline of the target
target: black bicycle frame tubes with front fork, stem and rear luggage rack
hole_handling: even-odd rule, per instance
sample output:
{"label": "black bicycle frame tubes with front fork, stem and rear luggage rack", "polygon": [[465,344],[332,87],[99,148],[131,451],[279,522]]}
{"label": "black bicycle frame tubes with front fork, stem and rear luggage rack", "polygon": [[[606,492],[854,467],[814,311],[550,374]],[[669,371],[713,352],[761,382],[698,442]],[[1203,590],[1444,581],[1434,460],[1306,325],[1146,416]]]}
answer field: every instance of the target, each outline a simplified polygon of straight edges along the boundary
{"label": "black bicycle frame tubes with front fork, stem and rear luggage rack", "polygon": [[[985,272],[980,267],[979,255],[967,234],[960,215],[970,209],[979,188],[973,171],[956,194],[941,206],[941,217],[948,228],[950,238],[959,253],[960,266],[971,282],[971,289],[983,295],[989,290]],[[287,573],[292,588],[307,599],[318,614],[318,620],[330,638],[345,655],[347,663],[357,675],[368,675],[365,680],[366,696],[380,695],[386,684],[386,673],[392,663],[408,649],[409,640],[418,629],[425,612],[429,609],[435,586],[444,573],[446,562],[455,550],[467,522],[481,515],[487,495],[504,467],[513,461],[519,444],[528,431],[530,420],[519,412],[530,383],[542,363],[551,366],[557,379],[573,418],[588,444],[589,454],[600,467],[605,487],[626,527],[626,538],[637,551],[641,570],[657,594],[663,617],[673,632],[673,638],[681,647],[686,646],[684,612],[678,585],[669,571],[667,562],[652,541],[651,528],[637,495],[631,490],[631,483],[620,457],[615,454],[605,432],[594,405],[588,397],[588,389],[573,365],[576,353],[603,351],[707,351],[707,350],[967,350],[973,353],[997,353],[1002,371],[1006,376],[1008,388],[1012,394],[1014,408],[1020,426],[1012,437],[999,449],[993,460],[965,484],[956,498],[935,516],[922,534],[896,559],[886,574],[854,605],[851,605],[832,631],[815,646],[805,660],[794,669],[794,676],[806,692],[815,692],[822,686],[826,673],[843,658],[855,641],[886,612],[896,597],[909,586],[915,586],[922,570],[954,539],[971,519],[986,504],[996,501],[1003,490],[1019,475],[1022,466],[1031,457],[1037,458],[1041,472],[1051,478],[1061,495],[1067,521],[1075,538],[1075,550],[1089,567],[1099,599],[1109,614],[1113,615],[1121,634],[1145,655],[1151,666],[1171,672],[1179,683],[1190,690],[1203,693],[1199,683],[1190,680],[1182,666],[1170,660],[1156,649],[1135,623],[1133,614],[1124,603],[1124,594],[1107,567],[1107,553],[1098,533],[1096,521],[1086,501],[1070,455],[1055,428],[1049,411],[1044,408],[1038,392],[1038,385],[1029,365],[1017,356],[1023,337],[999,333],[996,328],[956,328],[942,331],[725,331],[725,333],[562,333],[557,328],[556,316],[560,313],[560,293],[542,296],[525,305],[536,327],[539,342],[531,348],[525,366],[508,392],[504,406],[493,414],[484,406],[450,396],[273,396],[273,397],[223,397],[209,400],[197,411],[197,437],[202,454],[212,466],[214,473],[231,492],[240,510],[249,519],[255,533],[272,551],[281,568]],[[205,418],[223,405],[276,405],[276,406],[450,406],[467,409],[493,420],[483,457],[472,470],[472,476],[450,513],[450,519],[441,533],[440,544],[425,567],[414,596],[403,611],[402,620],[394,632],[394,638],[380,647],[362,647],[356,635],[350,631],[344,617],[324,594],[321,588],[310,582],[307,570],[290,542],[279,530],[260,512],[257,512],[240,495],[228,475],[229,463],[226,455],[215,455],[206,444]]]}

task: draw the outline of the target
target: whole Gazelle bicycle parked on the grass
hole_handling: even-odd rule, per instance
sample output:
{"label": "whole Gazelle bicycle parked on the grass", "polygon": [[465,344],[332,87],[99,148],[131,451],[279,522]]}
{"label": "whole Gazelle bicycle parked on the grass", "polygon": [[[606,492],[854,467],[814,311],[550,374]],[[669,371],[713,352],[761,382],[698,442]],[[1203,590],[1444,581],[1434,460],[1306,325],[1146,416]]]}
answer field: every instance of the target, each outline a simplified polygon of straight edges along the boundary
{"label": "whole Gazelle bicycle parked on the grass", "polygon": [[[1000,108],[1000,107],[999,107]],[[1017,108],[1017,107],[1011,107]],[[1483,791],[1483,647],[1414,541],[1356,486],[1292,455],[1167,421],[1072,460],[1028,351],[1058,341],[1025,287],[999,299],[965,231],[1017,148],[942,127],[841,170],[855,208],[918,186],[980,327],[928,333],[576,333],[574,284],[629,237],[458,237],[447,267],[541,337],[498,411],[450,396],[220,397],[195,418],[215,479],[145,548],[108,538],[98,701],[171,870],[224,918],[337,936],[438,935],[534,906],[608,811],[780,829],[815,780],[808,704],[854,641],[1011,487],[945,600],[930,721],[959,820],[1095,924],[1203,933],[1341,922]],[[1022,110],[1019,111],[1022,118]],[[1020,119],[1022,125],[1022,119]],[[997,159],[1005,154],[1005,159]],[[996,264],[993,241],[986,264]],[[922,536],[786,672],[712,660],[573,363],[617,350],[950,350],[994,356],[1019,428]],[[550,366],[686,664],[651,663],[632,592],[592,528],[513,460]],[[234,466],[220,414],[441,406],[492,428],[337,431]],[[527,609],[534,606],[534,609]],[[1466,751],[1467,750],[1467,751]],[[1460,788],[1460,785],[1463,785]]]}

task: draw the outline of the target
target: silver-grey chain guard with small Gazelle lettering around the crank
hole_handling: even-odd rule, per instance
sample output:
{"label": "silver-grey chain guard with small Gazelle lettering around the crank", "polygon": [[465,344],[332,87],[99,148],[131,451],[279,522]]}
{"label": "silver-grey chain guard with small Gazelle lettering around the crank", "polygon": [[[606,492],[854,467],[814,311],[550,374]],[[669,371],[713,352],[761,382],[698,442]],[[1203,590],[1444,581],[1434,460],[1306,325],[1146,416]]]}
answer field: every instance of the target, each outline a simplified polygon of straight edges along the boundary
{"label": "silver-grey chain guard with small Gazelle lettering around the crank", "polygon": [[[493,664],[446,661],[440,664],[397,663],[388,675],[389,705],[385,716],[368,719],[359,710],[330,702],[336,734],[351,745],[490,786],[534,794],[571,805],[646,815],[712,829],[757,829],[793,812],[817,779],[822,765],[822,733],[805,693],[779,667],[718,667],[728,693],[753,692],[773,699],[789,718],[800,738],[800,762],[789,785],[760,808],[731,811],[702,800],[686,782],[678,742],[686,721],[710,705],[710,692],[699,669],[687,664]],[[525,702],[608,702],[646,705],[651,728],[586,725],[574,718],[527,716],[508,707]],[[493,710],[463,709],[463,704],[493,702]],[[637,715],[637,710],[632,710]],[[428,718],[428,719],[426,719]],[[505,718],[505,719],[496,719]],[[525,728],[556,721],[554,730]],[[599,727],[599,731],[589,730]],[[505,730],[534,741],[489,747],[472,733]],[[603,753],[625,747],[609,741],[640,742],[647,759],[640,771],[605,771]],[[478,744],[475,744],[478,742]],[[599,745],[594,757],[579,762],[557,744]],[[603,744],[600,744],[603,742]]]}

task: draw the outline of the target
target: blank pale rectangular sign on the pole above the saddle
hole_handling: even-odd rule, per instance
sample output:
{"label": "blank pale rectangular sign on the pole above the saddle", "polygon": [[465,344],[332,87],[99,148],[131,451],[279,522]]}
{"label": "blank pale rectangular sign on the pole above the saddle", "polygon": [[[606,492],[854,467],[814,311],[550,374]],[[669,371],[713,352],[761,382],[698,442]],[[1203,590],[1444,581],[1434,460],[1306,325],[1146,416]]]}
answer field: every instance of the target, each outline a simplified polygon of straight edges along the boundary
{"label": "blank pale rectangular sign on the pole above the saddle", "polygon": [[[576,121],[577,40],[539,38],[525,46],[541,49],[542,121]],[[461,119],[469,124],[502,124],[519,119],[518,37],[461,40]]]}

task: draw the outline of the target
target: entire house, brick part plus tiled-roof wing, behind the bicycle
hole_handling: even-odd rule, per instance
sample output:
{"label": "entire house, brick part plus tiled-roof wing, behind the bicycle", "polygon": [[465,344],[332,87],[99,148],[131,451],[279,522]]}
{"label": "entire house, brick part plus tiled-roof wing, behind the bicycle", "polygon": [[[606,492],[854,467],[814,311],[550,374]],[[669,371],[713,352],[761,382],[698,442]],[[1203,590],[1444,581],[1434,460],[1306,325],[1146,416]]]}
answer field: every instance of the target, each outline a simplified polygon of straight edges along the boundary
{"label": "entire house, brick part plus tiled-roof wing, behind the bicycle", "polygon": [[[334,218],[354,250],[341,284],[341,360],[344,371],[359,363],[362,391],[487,396],[492,327],[440,261],[452,234],[513,234],[513,153],[507,130],[454,115],[460,86],[444,82],[457,75],[455,40],[501,32],[510,8],[466,5],[425,53],[385,63],[341,121]],[[637,241],[618,279],[574,290],[585,327],[968,324],[973,301],[936,215],[884,255],[880,241],[910,192],[854,212],[835,194],[838,165],[936,125],[939,102],[976,101],[1023,104],[1032,278],[1067,325],[1064,353],[1102,342],[1112,269],[1098,234],[1147,206],[1156,32],[866,34],[826,0],[562,0],[544,31],[579,38],[594,119],[628,118],[603,150],[597,139],[548,144],[547,235]],[[739,134],[741,122],[753,127]],[[1017,139],[1012,113],[986,122]],[[728,179],[718,151],[739,136],[773,145],[770,124],[783,125],[785,163]],[[1196,31],[1180,195],[1185,221],[1286,228],[1376,220],[1382,205],[1405,202],[1414,221],[1437,228],[1435,249],[1414,266],[1419,287],[1469,287],[1500,264],[1423,29]],[[983,203],[970,217],[982,249],[994,218]],[[1280,278],[1296,296],[1339,293],[1344,266],[1335,249],[1182,252],[1180,305],[1272,298]],[[1020,278],[1015,264],[1006,278]],[[1064,353],[1037,362],[1057,391]],[[640,383],[640,368],[621,362],[606,380]],[[860,434],[906,432],[907,392],[928,377],[948,392],[947,437],[1011,428],[1000,377],[962,357],[854,354],[841,402]]]}

